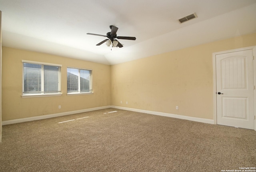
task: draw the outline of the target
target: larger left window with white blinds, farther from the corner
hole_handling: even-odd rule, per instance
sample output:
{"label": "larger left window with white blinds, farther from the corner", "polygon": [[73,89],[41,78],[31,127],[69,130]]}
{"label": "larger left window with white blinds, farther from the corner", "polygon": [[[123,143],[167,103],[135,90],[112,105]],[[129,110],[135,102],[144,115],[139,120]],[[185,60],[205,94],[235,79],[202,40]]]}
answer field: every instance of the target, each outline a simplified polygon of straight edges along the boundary
{"label": "larger left window with white blinds, farther from the corner", "polygon": [[26,60],[22,63],[22,96],[61,94],[61,65]]}

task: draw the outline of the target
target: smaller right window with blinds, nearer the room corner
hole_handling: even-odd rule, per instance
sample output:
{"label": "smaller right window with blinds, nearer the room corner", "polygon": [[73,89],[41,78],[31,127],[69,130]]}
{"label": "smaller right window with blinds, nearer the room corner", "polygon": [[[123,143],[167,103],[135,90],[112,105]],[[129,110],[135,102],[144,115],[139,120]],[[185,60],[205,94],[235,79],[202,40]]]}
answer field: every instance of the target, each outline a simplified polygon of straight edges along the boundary
{"label": "smaller right window with blinds, nearer the room corner", "polygon": [[92,93],[92,70],[67,68],[68,93]]}

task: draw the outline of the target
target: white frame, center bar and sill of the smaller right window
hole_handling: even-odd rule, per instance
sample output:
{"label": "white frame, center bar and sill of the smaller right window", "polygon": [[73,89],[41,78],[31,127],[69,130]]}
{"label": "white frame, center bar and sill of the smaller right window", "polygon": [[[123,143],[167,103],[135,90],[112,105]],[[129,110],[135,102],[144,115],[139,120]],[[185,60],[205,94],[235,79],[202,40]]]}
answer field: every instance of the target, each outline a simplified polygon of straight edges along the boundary
{"label": "white frame, center bar and sill of the smaller right window", "polygon": [[[68,68],[71,69],[78,69],[78,86],[80,85],[80,70],[88,70],[90,71],[90,90],[88,92],[68,92]],[[79,90],[80,88],[78,88]],[[92,88],[92,69],[86,69],[86,68],[77,68],[77,67],[71,67],[67,66],[67,95],[72,96],[72,95],[88,95],[88,94],[93,94],[93,88]]]}

